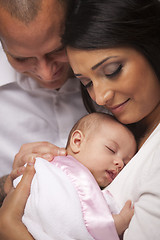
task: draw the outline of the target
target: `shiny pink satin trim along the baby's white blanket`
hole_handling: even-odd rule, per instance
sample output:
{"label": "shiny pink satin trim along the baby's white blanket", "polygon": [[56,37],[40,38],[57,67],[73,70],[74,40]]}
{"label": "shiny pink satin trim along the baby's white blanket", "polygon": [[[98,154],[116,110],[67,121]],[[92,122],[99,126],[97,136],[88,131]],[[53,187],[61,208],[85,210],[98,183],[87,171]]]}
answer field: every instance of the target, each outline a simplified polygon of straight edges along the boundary
{"label": "shiny pink satin trim along the baby's white blanket", "polygon": [[72,156],[55,157],[52,164],[70,178],[79,195],[84,223],[95,240],[118,240],[114,221],[97,182]]}

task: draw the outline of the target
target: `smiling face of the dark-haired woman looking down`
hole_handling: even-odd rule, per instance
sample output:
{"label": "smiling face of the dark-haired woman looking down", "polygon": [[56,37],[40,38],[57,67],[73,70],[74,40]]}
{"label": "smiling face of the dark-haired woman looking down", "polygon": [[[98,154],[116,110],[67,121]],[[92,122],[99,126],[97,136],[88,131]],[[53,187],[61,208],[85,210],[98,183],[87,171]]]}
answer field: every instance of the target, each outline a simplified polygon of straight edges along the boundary
{"label": "smiling face of the dark-haired woman looking down", "polygon": [[77,78],[91,98],[124,124],[149,115],[160,102],[160,81],[146,58],[132,48],[67,48]]}

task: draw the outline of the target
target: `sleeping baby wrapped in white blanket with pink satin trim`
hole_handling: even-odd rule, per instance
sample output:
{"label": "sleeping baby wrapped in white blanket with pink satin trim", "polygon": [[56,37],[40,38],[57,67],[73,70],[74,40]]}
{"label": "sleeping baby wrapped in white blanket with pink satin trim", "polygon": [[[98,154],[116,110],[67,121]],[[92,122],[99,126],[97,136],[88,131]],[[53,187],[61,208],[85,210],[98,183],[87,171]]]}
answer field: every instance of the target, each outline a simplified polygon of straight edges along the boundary
{"label": "sleeping baby wrapped in white blanket with pink satin trim", "polygon": [[24,224],[37,240],[119,239],[133,208],[128,201],[115,214],[104,188],[136,153],[134,136],[112,116],[92,113],[72,128],[66,149],[51,163],[37,158]]}

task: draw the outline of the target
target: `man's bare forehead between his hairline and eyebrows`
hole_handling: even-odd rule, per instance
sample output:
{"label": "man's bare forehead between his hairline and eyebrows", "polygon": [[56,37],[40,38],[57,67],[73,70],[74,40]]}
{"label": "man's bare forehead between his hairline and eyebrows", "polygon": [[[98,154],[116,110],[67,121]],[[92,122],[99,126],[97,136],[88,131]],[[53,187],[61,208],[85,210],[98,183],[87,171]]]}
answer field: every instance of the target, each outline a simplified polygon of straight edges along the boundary
{"label": "man's bare forehead between his hairline and eyebrows", "polygon": [[10,41],[18,45],[29,45],[31,42],[37,41],[37,44],[41,45],[46,42],[47,38],[57,38],[60,41],[64,29],[65,19],[61,11],[52,14],[51,17],[39,17],[28,25],[16,19],[6,18],[7,16],[0,17],[2,20],[0,38],[7,45]]}

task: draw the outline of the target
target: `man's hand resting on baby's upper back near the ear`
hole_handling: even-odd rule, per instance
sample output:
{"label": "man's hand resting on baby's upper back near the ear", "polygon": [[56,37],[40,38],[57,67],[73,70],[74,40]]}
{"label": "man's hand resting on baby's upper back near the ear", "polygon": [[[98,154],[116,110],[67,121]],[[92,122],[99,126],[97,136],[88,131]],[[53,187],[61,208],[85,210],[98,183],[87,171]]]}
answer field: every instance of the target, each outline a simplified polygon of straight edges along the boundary
{"label": "man's hand resting on baby's upper back near the ear", "polygon": [[36,157],[42,157],[47,161],[52,161],[53,158],[58,155],[66,155],[66,150],[49,142],[23,144],[15,156],[13,170],[5,181],[4,192],[7,194],[10,191],[13,185],[13,180],[23,174],[25,170],[24,165],[28,163],[30,159],[35,160]]}

